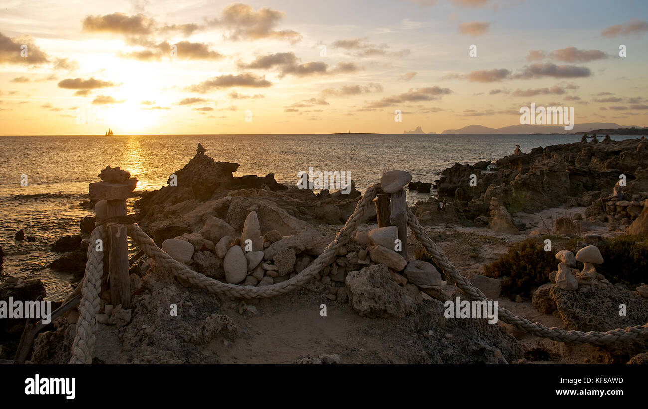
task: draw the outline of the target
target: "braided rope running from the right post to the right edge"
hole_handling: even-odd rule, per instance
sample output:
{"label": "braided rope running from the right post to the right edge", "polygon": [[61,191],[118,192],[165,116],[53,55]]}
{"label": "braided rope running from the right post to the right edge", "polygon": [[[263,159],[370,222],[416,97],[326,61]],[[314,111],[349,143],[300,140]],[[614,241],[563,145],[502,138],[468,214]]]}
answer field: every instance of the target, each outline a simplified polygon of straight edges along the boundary
{"label": "braided rope running from the right post to the right edge", "polygon": [[[430,236],[425,233],[423,227],[419,224],[419,221],[409,209],[408,225],[410,226],[415,238],[421,241],[421,244],[423,245],[425,250],[430,254],[430,256],[432,256],[432,260],[434,260],[434,262],[437,263],[439,267],[441,267],[444,274],[450,279],[450,281],[454,282],[464,294],[466,294],[473,300],[489,300],[483,293],[481,293],[480,289],[472,287],[467,278],[459,274],[457,268],[454,267],[452,263],[450,263],[445,254],[443,254],[443,251],[441,251],[441,249],[439,249],[439,247],[434,244],[434,241],[430,239]],[[590,331],[583,333],[581,331],[566,331],[557,327],[549,328],[543,326],[538,322],[531,322],[526,318],[516,316],[515,314],[511,313],[511,311],[502,307],[498,307],[498,316],[499,319],[503,322],[516,326],[519,329],[526,331],[527,333],[561,342],[605,345],[616,341],[631,340],[639,337],[640,335],[648,335],[648,323],[643,324],[643,326],[626,327],[625,329],[612,329],[604,333],[599,331]]]}

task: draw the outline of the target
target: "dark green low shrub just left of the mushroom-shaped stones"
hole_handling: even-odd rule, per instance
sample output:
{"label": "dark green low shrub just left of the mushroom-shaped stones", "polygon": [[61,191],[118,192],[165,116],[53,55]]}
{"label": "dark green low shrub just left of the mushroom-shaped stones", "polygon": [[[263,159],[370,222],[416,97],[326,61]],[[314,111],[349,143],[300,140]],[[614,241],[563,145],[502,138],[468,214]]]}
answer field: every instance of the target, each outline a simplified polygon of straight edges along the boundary
{"label": "dark green low shrub just left of the mushroom-shaped stones", "polygon": [[555,253],[544,250],[544,238],[530,238],[515,243],[507,254],[484,265],[484,275],[502,278],[502,294],[515,299],[529,296],[531,290],[549,282],[549,273],[557,269]]}

